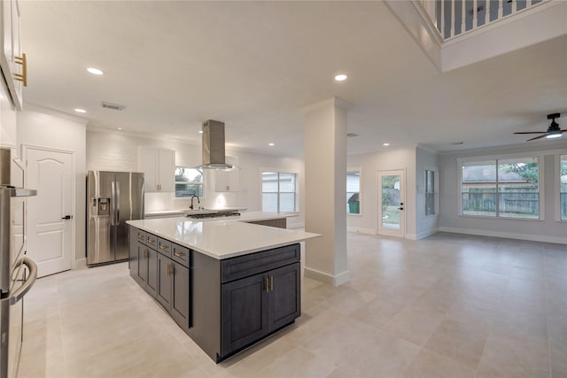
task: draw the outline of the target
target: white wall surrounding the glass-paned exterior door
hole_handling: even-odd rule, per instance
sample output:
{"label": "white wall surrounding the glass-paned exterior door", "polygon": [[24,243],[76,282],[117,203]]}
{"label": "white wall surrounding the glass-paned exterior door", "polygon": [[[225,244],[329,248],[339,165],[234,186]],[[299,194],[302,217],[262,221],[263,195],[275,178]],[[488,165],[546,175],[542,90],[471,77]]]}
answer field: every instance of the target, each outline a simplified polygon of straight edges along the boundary
{"label": "white wall surrounding the glass-paned exterior door", "polygon": [[406,238],[416,239],[416,148],[349,155],[347,170],[361,168],[361,215],[348,214],[348,231],[377,234],[378,171],[406,172]]}

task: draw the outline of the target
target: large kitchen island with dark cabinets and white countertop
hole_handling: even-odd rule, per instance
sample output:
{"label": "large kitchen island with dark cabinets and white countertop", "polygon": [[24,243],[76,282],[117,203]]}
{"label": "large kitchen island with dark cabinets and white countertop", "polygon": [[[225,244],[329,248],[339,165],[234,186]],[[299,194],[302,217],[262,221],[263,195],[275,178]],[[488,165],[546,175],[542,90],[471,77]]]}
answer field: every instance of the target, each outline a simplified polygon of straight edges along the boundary
{"label": "large kitchen island with dark cabinets and white countertop", "polygon": [[299,242],[318,236],[245,214],[128,221],[130,275],[216,362],[299,317]]}

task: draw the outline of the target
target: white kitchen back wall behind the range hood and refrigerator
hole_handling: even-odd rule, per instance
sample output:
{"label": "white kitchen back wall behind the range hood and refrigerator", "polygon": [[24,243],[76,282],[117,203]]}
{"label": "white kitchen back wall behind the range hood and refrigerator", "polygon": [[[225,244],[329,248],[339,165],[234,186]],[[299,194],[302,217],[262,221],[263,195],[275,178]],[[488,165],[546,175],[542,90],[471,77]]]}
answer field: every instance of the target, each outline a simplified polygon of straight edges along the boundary
{"label": "white kitchen back wall behind the range hood and refrigerator", "polygon": [[[151,146],[175,150],[176,166],[198,166],[201,164],[200,143],[186,143],[139,135],[127,135],[99,129],[87,130],[87,170],[136,171],[137,149]],[[238,150],[226,150],[226,154],[238,158],[238,192],[214,192],[214,171],[205,171],[205,196],[201,204],[215,207],[245,207],[249,211],[261,210],[261,169],[282,170],[299,174],[299,217],[289,220],[291,227],[302,227],[304,222],[302,158],[282,158],[260,155]],[[172,173],[173,174],[173,173]],[[146,193],[145,211],[186,209],[189,198],[175,198],[175,193]]]}

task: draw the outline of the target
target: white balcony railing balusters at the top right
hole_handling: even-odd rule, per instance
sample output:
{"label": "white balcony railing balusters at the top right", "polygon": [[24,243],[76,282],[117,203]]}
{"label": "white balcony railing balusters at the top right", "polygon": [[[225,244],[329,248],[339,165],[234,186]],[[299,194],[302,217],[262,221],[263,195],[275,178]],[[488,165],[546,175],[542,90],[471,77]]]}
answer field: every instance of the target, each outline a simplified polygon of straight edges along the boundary
{"label": "white balcony railing balusters at the top right", "polygon": [[418,0],[444,40],[509,18],[551,0]]}

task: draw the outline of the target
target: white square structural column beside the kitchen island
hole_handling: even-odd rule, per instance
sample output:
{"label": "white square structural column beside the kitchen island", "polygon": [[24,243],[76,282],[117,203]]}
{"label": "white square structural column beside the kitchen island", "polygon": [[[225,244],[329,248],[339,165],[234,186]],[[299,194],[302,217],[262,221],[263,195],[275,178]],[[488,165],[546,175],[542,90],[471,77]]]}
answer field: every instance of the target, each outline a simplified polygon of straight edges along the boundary
{"label": "white square structural column beside the kitchen island", "polygon": [[346,263],[346,110],[336,97],[305,110],[305,275],[338,286]]}

